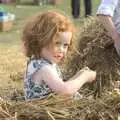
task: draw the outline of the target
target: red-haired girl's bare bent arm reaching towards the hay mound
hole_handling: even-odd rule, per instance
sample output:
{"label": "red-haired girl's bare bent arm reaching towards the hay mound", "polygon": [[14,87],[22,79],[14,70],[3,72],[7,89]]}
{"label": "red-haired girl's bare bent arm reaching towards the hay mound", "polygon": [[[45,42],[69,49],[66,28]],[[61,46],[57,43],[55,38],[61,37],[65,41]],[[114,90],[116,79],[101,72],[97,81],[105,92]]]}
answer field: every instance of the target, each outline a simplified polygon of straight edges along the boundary
{"label": "red-haired girl's bare bent arm reaching towards the hay mound", "polygon": [[37,77],[42,75],[42,79],[55,92],[72,94],[79,90],[86,82],[95,80],[96,72],[86,70],[82,74],[77,75],[74,79],[64,82],[50,66],[45,66],[36,74]]}

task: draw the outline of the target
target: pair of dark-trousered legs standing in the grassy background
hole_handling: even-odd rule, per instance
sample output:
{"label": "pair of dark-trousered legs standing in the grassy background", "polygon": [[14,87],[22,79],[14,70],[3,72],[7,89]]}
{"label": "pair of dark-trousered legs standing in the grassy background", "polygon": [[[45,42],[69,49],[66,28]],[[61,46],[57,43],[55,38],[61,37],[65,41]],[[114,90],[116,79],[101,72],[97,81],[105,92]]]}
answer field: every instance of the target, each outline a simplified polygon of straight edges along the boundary
{"label": "pair of dark-trousered legs standing in the grassy background", "polygon": [[[72,15],[74,18],[78,18],[80,15],[80,0],[71,1]],[[90,16],[92,13],[91,0],[84,0],[85,17]]]}

